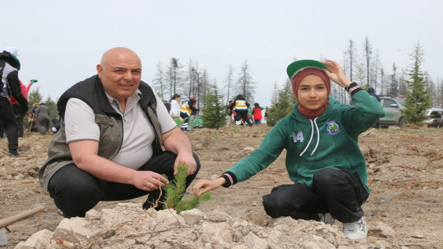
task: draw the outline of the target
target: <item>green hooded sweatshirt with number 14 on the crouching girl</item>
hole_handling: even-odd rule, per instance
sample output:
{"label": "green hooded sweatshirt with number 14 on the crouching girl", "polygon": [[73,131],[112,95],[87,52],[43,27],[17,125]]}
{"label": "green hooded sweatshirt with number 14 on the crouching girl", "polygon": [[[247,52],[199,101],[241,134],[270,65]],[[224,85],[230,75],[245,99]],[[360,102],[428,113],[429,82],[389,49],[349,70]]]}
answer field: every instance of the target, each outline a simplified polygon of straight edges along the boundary
{"label": "green hooded sweatshirt with number 14 on the crouching girl", "polygon": [[347,169],[359,175],[369,193],[365,158],[358,145],[359,134],[372,127],[385,111],[377,99],[365,91],[352,95],[352,102],[355,106],[329,97],[327,108],[315,121],[302,116],[298,103],[294,104],[292,113],[275,124],[260,147],[224,175],[229,174],[233,184],[245,181],[268,167],[282,149],[286,149],[286,169],[294,183],[311,187],[312,178],[320,169]]}

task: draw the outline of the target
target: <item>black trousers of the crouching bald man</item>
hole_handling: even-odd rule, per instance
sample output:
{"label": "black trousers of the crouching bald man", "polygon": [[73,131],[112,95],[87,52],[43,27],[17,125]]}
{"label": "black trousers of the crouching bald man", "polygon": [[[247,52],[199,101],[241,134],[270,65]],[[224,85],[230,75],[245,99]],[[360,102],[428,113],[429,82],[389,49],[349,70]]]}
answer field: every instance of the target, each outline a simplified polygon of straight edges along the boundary
{"label": "black trousers of the crouching bald man", "polygon": [[[193,156],[197,162],[197,170],[186,178],[186,187],[194,180],[200,169],[198,156],[196,154],[193,154]],[[176,154],[165,151],[152,156],[150,160],[137,170],[165,174],[172,181],[174,179],[174,162],[176,158]],[[147,192],[138,189],[134,185],[103,181],[84,172],[73,163],[55,172],[48,183],[48,191],[54,199],[55,205],[62,210],[66,218],[74,216],[84,217],[86,212],[96,206],[99,201],[123,201],[149,194],[146,203],[143,205],[143,208],[147,209],[152,206],[150,203],[154,203],[159,198],[160,194],[159,190]],[[160,201],[163,201],[163,199]],[[161,205],[157,210],[160,208]]]}

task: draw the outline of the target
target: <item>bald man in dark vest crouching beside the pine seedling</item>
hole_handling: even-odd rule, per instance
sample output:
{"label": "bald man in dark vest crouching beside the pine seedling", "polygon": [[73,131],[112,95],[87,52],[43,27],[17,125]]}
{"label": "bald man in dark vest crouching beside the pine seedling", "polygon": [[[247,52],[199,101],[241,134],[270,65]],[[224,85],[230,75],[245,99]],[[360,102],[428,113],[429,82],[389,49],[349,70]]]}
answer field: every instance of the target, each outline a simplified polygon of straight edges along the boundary
{"label": "bald man in dark vest crouching beside the pine seedling", "polygon": [[178,163],[190,166],[186,186],[200,168],[188,137],[159,96],[141,82],[141,61],[134,51],[107,50],[97,72],[60,97],[62,126],[39,171],[42,187],[65,217],[84,216],[99,201],[146,194],[143,208],[151,208]]}

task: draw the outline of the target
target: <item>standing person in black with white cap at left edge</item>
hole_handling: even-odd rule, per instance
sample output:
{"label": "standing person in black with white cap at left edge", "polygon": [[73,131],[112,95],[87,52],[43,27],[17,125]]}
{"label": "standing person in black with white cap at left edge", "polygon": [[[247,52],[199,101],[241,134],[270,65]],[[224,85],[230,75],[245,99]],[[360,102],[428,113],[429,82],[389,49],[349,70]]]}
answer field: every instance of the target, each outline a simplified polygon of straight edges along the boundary
{"label": "standing person in black with white cap at left edge", "polygon": [[12,112],[12,105],[8,98],[10,95],[19,102],[21,110],[28,111],[28,100],[21,94],[19,82],[20,62],[17,59],[17,50],[13,47],[3,48],[0,53],[0,119],[8,133],[8,156],[17,158],[19,147],[19,132],[15,114]]}

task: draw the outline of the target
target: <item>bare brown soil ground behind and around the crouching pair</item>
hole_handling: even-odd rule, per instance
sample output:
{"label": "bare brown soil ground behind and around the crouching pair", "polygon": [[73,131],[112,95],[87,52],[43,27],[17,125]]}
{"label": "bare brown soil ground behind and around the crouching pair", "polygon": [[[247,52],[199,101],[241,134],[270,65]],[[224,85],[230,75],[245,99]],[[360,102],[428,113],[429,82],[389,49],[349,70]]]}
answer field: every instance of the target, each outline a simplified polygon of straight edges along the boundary
{"label": "bare brown soil ground behind and around the crouching pair", "polygon": [[[188,132],[202,165],[197,180],[217,178],[257,148],[269,129],[262,124]],[[8,244],[1,248],[14,248],[39,230],[54,231],[63,219],[37,176],[52,136],[26,133],[19,139],[19,154],[24,158],[9,158],[8,142],[6,138],[0,139],[0,220],[35,205],[46,207],[43,212],[0,228],[8,237]],[[365,220],[369,226],[381,221],[396,232],[388,238],[370,233],[368,240],[388,241],[395,248],[443,248],[443,129],[373,130],[361,135],[359,145],[368,165],[372,190],[363,205]],[[214,191],[214,199],[202,203],[199,210],[219,210],[266,226],[271,218],[263,210],[262,196],[275,185],[290,183],[284,167],[285,154],[283,151],[274,163],[248,181]],[[139,198],[129,202],[144,201]],[[115,206],[116,202],[102,202],[95,209],[100,212]]]}

